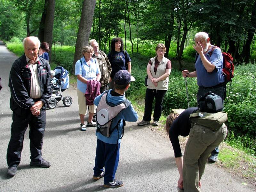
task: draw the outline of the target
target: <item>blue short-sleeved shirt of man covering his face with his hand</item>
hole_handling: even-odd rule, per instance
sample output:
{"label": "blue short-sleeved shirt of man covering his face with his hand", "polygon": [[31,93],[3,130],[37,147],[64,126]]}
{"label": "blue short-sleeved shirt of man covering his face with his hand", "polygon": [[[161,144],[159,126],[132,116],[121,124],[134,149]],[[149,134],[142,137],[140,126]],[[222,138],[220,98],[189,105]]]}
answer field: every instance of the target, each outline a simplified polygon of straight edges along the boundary
{"label": "blue short-sleeved shirt of man covering his face with his hand", "polygon": [[212,52],[211,57],[210,54],[207,52],[205,54],[205,57],[208,61],[215,65],[216,68],[211,73],[207,72],[207,70],[204,68],[200,56],[198,56],[195,64],[197,85],[199,87],[213,87],[215,85],[223,83],[225,79],[222,75],[223,57],[220,48],[215,48]]}

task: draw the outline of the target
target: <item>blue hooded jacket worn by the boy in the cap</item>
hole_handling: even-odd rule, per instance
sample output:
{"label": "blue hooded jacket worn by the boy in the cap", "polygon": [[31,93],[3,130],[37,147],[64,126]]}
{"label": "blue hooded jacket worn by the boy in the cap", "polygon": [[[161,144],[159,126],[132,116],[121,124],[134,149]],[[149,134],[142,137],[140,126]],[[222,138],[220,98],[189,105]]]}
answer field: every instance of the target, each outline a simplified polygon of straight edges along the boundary
{"label": "blue hooded jacket worn by the boy in the cap", "polygon": [[[104,93],[104,92],[103,92]],[[102,94],[103,94],[102,93]],[[99,105],[100,103],[100,99],[102,97],[102,94],[99,95],[98,97],[96,97],[94,99],[94,104],[96,106]],[[110,91],[108,92],[108,97],[107,97],[108,102],[117,104],[122,102],[123,100],[125,100],[125,95],[122,96],[112,96]],[[109,143],[109,144],[116,144],[117,141],[117,137],[118,137],[118,143],[121,142],[121,140],[119,139],[122,136],[122,131],[123,131],[123,120],[125,121],[131,121],[131,122],[136,122],[138,120],[138,114],[137,112],[134,110],[134,108],[132,107],[132,104],[127,107],[126,109],[122,110],[113,120],[112,120],[112,127],[115,127],[116,124],[118,123],[118,121],[122,119],[118,125],[118,131],[117,129],[114,129],[114,131],[110,134],[109,137],[105,137],[102,134],[100,134],[99,132],[96,132],[96,136],[99,140],[105,142],[105,143]],[[119,132],[119,135],[118,135]]]}

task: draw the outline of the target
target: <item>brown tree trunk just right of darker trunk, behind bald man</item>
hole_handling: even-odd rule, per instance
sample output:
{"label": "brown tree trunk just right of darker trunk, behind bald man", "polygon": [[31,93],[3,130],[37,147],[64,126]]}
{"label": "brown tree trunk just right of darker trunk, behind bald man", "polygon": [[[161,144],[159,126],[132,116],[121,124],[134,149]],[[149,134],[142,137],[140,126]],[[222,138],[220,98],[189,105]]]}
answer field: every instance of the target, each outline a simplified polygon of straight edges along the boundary
{"label": "brown tree trunk just right of darker trunk, behind bald man", "polygon": [[44,41],[49,43],[49,60],[52,61],[52,29],[55,12],[55,0],[48,0],[46,18],[44,24]]}

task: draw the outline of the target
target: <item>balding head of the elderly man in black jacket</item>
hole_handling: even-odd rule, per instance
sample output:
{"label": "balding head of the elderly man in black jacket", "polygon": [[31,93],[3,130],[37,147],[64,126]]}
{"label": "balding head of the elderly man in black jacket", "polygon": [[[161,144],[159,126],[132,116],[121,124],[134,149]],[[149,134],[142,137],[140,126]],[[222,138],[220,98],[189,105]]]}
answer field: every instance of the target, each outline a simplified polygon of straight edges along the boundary
{"label": "balding head of the elderly man in black jacket", "polygon": [[23,40],[25,55],[32,61],[36,61],[37,53],[40,47],[40,41],[35,36],[26,37]]}

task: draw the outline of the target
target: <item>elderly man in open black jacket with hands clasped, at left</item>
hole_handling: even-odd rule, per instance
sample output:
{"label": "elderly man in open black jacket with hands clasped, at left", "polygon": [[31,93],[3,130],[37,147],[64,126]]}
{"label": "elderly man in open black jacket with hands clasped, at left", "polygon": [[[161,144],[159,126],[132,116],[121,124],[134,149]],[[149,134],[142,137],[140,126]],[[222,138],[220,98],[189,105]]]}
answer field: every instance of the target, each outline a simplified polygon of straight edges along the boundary
{"label": "elderly man in open black jacket with hands clasped, at left", "polygon": [[11,140],[7,149],[7,174],[14,176],[20,164],[24,134],[29,124],[30,165],[48,168],[42,158],[46,101],[51,97],[50,65],[38,57],[40,41],[30,36],[23,40],[24,52],[14,61],[9,79],[12,110]]}

